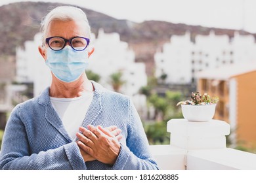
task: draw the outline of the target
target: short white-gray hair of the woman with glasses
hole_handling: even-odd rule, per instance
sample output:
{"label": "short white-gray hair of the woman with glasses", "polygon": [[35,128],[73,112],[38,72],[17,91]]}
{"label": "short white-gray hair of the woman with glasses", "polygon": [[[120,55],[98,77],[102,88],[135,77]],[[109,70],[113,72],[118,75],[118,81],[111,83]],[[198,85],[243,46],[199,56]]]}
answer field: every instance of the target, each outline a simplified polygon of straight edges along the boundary
{"label": "short white-gray hair of the woman with glasses", "polygon": [[60,20],[63,22],[67,22],[70,20],[73,21],[82,21],[85,24],[86,27],[86,34],[88,38],[90,39],[91,37],[91,27],[89,25],[89,22],[87,20],[87,16],[81,8],[77,7],[72,7],[72,6],[61,6],[61,7],[56,7],[53,10],[51,10],[45,18],[43,18],[41,22],[41,32],[43,33],[42,35],[42,41],[43,45],[45,44],[45,39],[47,35],[47,30],[49,27],[49,24],[53,22],[54,20]]}

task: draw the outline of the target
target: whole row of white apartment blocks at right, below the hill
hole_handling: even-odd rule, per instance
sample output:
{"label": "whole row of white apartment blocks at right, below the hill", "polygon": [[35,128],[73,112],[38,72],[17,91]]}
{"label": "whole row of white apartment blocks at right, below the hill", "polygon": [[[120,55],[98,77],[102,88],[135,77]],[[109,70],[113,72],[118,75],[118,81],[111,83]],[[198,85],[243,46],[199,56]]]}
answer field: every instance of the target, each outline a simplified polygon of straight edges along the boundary
{"label": "whole row of white apartment blocks at right, below the hill", "polygon": [[223,65],[256,61],[256,44],[252,35],[196,35],[190,41],[190,33],[172,36],[171,42],[163,45],[163,50],[155,55],[156,77],[164,73],[167,84],[190,84],[196,73],[205,69],[215,69]]}

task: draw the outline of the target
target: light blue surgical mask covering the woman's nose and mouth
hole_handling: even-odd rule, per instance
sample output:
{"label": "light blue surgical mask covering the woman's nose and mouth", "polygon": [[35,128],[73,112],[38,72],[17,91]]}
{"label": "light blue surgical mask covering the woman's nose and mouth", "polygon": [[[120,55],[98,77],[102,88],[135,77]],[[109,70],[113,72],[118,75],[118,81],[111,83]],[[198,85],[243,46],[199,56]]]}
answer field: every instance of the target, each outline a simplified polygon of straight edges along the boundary
{"label": "light blue surgical mask covering the woman's nose and mouth", "polygon": [[87,49],[75,51],[70,46],[59,51],[47,48],[45,63],[59,80],[74,82],[85,72],[88,65],[88,52]]}

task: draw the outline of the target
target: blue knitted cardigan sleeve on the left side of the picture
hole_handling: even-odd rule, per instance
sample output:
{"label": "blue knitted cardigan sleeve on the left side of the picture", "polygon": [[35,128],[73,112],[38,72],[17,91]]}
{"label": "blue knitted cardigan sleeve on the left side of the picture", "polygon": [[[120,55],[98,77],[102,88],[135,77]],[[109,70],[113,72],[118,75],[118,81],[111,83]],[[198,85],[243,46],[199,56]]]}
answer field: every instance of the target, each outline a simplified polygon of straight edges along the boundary
{"label": "blue knitted cardigan sleeve on the left side of the picture", "polygon": [[[37,139],[40,143],[40,139]],[[20,120],[20,107],[15,107],[7,122],[0,152],[0,169],[86,169],[75,142],[55,149],[30,154],[26,128]]]}

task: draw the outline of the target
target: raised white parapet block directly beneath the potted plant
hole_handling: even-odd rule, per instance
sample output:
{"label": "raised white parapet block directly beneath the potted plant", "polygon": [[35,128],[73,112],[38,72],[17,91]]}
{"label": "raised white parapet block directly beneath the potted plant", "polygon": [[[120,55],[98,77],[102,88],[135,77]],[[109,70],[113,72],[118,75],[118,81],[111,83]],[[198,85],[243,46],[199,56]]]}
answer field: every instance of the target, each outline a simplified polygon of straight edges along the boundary
{"label": "raised white parapet block directly beneath the potted plant", "polygon": [[226,135],[230,125],[220,120],[209,122],[188,122],[185,119],[172,119],[167,124],[171,133],[170,144],[186,150],[226,148]]}

